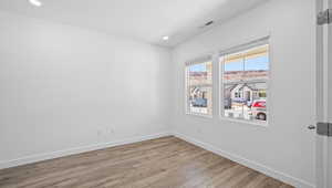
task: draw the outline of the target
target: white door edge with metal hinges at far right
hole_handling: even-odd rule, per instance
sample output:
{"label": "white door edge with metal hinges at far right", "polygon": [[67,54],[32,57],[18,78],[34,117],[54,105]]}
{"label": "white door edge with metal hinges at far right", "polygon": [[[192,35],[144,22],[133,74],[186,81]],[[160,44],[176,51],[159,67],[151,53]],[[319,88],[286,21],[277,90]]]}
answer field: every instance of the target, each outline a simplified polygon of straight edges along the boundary
{"label": "white door edge with metal hinges at far right", "polygon": [[317,28],[317,188],[332,188],[332,11],[325,11],[331,8],[332,0],[317,0],[318,13],[324,12]]}

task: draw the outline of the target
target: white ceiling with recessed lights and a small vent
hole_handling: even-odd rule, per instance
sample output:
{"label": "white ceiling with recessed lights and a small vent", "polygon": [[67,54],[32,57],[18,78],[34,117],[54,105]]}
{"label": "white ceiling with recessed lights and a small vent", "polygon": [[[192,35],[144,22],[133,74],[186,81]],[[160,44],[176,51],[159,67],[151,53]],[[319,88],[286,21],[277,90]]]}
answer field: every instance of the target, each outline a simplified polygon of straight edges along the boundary
{"label": "white ceiling with recessed lights and a small vent", "polygon": [[[175,46],[267,0],[0,0],[0,10]],[[214,20],[210,27],[200,28]],[[169,35],[163,41],[163,35]]]}

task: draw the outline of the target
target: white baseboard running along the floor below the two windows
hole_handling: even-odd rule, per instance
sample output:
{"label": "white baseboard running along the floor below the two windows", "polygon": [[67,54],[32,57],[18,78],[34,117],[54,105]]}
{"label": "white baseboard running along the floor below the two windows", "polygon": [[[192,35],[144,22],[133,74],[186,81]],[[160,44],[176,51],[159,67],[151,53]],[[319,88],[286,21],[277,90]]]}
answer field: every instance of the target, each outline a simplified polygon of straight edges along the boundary
{"label": "white baseboard running along the floor below the two windows", "polygon": [[238,164],[241,164],[243,166],[247,166],[249,168],[252,168],[259,173],[262,173],[267,176],[270,176],[272,178],[276,178],[276,179],[279,179],[283,182],[287,182],[289,185],[292,185],[297,188],[315,188],[314,185],[310,184],[310,182],[307,182],[302,179],[299,179],[299,178],[295,178],[295,177],[292,177],[290,175],[287,175],[284,173],[281,173],[281,171],[278,171],[278,170],[274,170],[270,167],[267,167],[264,165],[261,165],[257,161],[252,161],[252,160],[249,160],[249,159],[246,159],[245,157],[241,157],[241,156],[238,156],[238,155],[235,155],[235,154],[230,154],[228,152],[225,152],[225,150],[221,150],[215,146],[212,146],[211,144],[207,144],[207,143],[203,143],[200,140],[197,140],[195,138],[190,138],[189,136],[186,136],[184,134],[180,134],[180,133],[174,133],[173,134],[174,136],[180,138],[180,139],[184,139],[190,144],[194,144],[194,145],[197,145],[206,150],[209,150],[211,153],[215,153],[217,155],[220,155],[222,157],[226,157],[232,161],[236,161]]}

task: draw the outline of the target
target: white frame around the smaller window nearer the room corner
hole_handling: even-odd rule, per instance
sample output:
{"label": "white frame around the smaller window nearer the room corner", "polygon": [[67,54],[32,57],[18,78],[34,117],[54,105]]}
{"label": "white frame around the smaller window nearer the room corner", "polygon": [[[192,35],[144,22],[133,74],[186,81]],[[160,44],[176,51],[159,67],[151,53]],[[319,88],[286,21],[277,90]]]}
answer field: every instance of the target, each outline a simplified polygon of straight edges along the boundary
{"label": "white frame around the smaller window nearer the room corner", "polygon": [[[188,66],[190,65],[195,65],[195,64],[201,64],[201,63],[206,63],[206,62],[211,62],[211,65],[212,65],[212,70],[211,70],[211,113],[210,114],[203,114],[203,113],[193,113],[190,112],[190,106],[188,104]],[[212,118],[214,116],[214,59],[212,59],[212,55],[204,55],[201,58],[198,58],[198,59],[194,59],[191,61],[187,61],[185,63],[185,112],[186,112],[186,115],[193,115],[193,116],[197,116],[197,117],[206,117],[206,118]]]}

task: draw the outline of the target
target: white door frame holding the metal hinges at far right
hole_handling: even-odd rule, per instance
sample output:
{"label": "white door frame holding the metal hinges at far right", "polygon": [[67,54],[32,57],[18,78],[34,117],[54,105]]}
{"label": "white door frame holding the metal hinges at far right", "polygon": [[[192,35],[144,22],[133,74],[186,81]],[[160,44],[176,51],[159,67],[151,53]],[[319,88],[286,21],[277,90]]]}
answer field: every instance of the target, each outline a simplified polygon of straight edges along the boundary
{"label": "white door frame holding the metal hinges at far right", "polygon": [[[315,0],[317,2],[317,15],[319,12],[330,8],[332,0]],[[329,29],[330,28],[330,29]],[[329,31],[330,30],[330,31]],[[317,123],[329,122],[329,51],[331,51],[331,25],[317,24]],[[329,188],[329,176],[331,169],[329,169],[329,138],[328,136],[317,135],[317,188]],[[330,182],[331,184],[331,182]]]}

